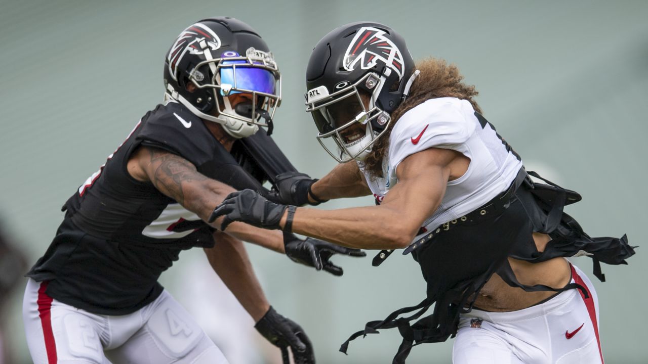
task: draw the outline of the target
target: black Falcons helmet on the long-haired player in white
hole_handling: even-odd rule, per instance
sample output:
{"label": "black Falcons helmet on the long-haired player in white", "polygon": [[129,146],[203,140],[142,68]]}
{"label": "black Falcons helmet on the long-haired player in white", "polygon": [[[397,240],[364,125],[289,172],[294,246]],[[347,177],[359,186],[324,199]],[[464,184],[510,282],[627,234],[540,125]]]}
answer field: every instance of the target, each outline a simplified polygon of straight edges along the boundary
{"label": "black Falcons helmet on the long-haired player in white", "polygon": [[340,163],[364,159],[418,74],[392,28],[362,21],[332,30],[313,49],[306,71],[306,111],[320,144]]}

